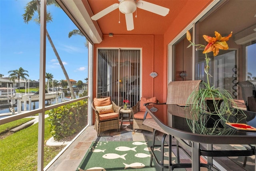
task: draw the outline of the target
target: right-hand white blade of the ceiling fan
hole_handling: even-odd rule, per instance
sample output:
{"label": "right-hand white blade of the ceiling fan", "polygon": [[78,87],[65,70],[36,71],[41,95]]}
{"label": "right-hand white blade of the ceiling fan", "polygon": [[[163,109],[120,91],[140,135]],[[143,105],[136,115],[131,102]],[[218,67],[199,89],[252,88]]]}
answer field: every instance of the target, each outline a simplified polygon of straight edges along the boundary
{"label": "right-hand white blade of the ceiling fan", "polygon": [[146,2],[144,0],[138,0],[137,7],[142,9],[142,10],[153,12],[153,13],[158,14],[160,16],[166,16],[170,11],[169,8],[165,8],[163,6],[152,4],[152,3]]}

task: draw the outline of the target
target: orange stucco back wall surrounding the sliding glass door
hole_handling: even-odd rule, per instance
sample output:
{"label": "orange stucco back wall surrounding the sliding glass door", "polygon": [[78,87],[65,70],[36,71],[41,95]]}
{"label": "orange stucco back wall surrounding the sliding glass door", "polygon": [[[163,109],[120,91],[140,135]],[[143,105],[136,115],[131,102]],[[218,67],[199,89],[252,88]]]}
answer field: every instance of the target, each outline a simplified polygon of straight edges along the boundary
{"label": "orange stucco back wall surrounding the sliding glass door", "polygon": [[[94,57],[97,48],[141,48],[142,49],[142,96],[156,96],[161,102],[164,101],[162,94],[163,85],[166,78],[163,76],[164,55],[163,55],[163,35],[114,35],[109,37],[103,35],[103,41],[94,45]],[[151,72],[158,73],[156,78],[150,76]],[[94,72],[96,73],[96,58],[94,58]],[[94,78],[96,74],[94,74]],[[94,86],[96,80],[94,79]],[[95,97],[95,93],[93,95]]]}

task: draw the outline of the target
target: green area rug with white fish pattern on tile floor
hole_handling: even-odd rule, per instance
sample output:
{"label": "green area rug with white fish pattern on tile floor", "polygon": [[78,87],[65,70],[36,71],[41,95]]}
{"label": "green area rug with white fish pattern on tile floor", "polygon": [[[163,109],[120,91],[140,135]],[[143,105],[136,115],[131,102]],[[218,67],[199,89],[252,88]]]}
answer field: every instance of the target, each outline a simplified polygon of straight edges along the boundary
{"label": "green area rug with white fish pattern on tile floor", "polygon": [[[93,142],[77,171],[158,171],[154,163],[150,167],[151,141],[99,141]],[[161,154],[160,148],[155,149]],[[168,165],[168,148],[165,148],[164,163]],[[174,155],[172,155],[174,156]],[[154,160],[153,160],[154,161]],[[172,157],[172,162],[176,157]],[[168,169],[164,169],[168,170]],[[178,169],[185,171],[185,169]]]}

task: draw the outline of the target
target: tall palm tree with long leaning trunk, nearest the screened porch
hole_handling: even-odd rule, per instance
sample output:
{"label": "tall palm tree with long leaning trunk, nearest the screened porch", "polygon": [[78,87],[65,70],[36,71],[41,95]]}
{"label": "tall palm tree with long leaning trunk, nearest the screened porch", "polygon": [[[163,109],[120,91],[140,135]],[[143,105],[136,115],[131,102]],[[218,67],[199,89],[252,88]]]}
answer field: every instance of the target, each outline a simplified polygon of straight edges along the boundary
{"label": "tall palm tree with long leaning trunk, nearest the screened porch", "polygon": [[[56,3],[55,0],[47,0],[46,1],[46,5],[55,5],[57,7],[60,7]],[[26,7],[25,7],[25,13],[22,15],[24,22],[26,24],[28,24],[28,22],[32,20],[32,17],[34,16],[35,12],[37,12],[38,14],[40,13],[39,10],[40,10],[40,1],[39,0],[32,0],[32,1],[28,2]],[[39,20],[37,20],[37,21],[39,21]],[[47,22],[51,22],[52,21],[52,16],[51,16],[50,12],[47,12],[46,21]],[[38,23],[40,23],[40,22],[38,22]],[[52,39],[51,39],[51,37],[50,37],[50,35],[49,35],[47,30],[46,30],[46,37],[48,38],[48,40],[49,40],[49,42],[50,42],[50,44],[52,46],[52,50],[54,51],[54,54],[55,54],[55,56],[56,56],[56,58],[57,58],[57,60],[58,60],[58,62],[60,64],[62,72],[63,72],[63,74],[64,74],[64,76],[65,76],[65,78],[66,78],[66,80],[68,82],[72,99],[75,99],[76,95],[74,93],[74,89],[72,87],[72,84],[71,84],[70,79],[68,77],[68,74],[66,72],[66,69],[65,69],[65,67],[64,67],[64,65],[62,63],[62,60],[60,59],[60,56],[59,56],[59,54],[58,54],[58,52],[57,52],[57,50],[56,50],[56,48],[55,48],[55,46],[54,46],[54,44],[52,42]]]}

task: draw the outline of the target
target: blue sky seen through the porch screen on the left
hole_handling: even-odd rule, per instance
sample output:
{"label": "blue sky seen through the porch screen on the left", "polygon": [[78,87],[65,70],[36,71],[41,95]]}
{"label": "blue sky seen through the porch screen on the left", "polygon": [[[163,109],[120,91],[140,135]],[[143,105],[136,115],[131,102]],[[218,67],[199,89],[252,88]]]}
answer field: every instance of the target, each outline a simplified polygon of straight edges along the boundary
{"label": "blue sky seen through the porch screen on the left", "polygon": [[[8,77],[8,71],[22,67],[30,80],[39,79],[40,26],[34,20],[26,24],[22,18],[24,7],[30,0],[0,0],[0,74]],[[62,9],[47,6],[53,21],[47,30],[58,51],[70,79],[88,78],[88,49],[82,36],[68,38],[77,27]],[[66,80],[58,60],[46,40],[46,73],[54,80]]]}

